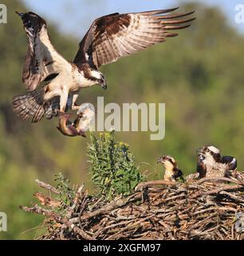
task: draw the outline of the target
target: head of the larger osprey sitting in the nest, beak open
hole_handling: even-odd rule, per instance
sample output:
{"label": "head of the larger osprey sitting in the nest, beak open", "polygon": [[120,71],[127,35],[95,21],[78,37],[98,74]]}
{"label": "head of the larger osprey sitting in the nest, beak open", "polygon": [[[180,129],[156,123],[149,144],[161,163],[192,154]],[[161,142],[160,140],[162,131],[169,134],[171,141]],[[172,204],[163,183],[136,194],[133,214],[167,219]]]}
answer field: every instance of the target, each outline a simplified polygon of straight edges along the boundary
{"label": "head of the larger osprey sitting in the nest, beak open", "polygon": [[215,146],[202,146],[197,150],[199,160],[207,164],[210,162],[219,162],[221,159],[220,150]]}

